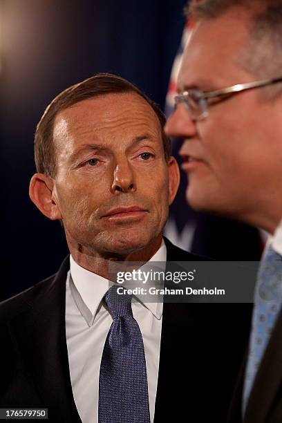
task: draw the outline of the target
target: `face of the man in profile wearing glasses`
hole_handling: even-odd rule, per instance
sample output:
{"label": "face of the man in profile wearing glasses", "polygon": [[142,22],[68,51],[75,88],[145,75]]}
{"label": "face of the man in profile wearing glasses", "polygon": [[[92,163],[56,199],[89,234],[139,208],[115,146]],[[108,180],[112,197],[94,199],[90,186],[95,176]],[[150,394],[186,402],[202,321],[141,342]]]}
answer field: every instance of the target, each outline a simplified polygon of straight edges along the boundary
{"label": "face of the man in profile wearing glasses", "polygon": [[[250,23],[244,14],[234,9],[196,26],[180,68],[180,93],[259,79],[238,64],[249,41]],[[263,89],[210,104],[209,115],[198,122],[189,118],[183,104],[171,115],[165,131],[185,139],[180,154],[192,207],[256,223],[258,207],[267,207],[273,196],[281,198],[281,106],[265,100]]]}

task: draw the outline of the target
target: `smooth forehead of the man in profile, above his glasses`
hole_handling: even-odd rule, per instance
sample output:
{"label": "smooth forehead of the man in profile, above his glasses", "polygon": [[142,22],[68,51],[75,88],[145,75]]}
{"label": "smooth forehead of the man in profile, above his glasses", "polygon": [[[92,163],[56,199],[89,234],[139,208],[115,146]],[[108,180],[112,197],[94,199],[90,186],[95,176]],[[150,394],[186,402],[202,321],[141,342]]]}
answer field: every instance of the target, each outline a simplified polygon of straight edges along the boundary
{"label": "smooth forehead of the man in profile, above his glasses", "polygon": [[185,48],[178,91],[197,85],[212,90],[236,84],[239,77],[244,79],[239,62],[249,46],[251,28],[252,20],[243,8],[198,21]]}

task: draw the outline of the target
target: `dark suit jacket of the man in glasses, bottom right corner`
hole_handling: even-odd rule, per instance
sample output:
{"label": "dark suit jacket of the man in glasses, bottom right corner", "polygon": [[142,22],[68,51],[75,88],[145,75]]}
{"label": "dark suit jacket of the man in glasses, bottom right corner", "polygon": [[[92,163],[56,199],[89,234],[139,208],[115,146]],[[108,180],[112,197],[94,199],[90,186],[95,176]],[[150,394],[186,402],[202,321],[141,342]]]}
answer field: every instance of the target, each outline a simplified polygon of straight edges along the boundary
{"label": "dark suit jacket of the man in glasses, bottom right corner", "polygon": [[[229,423],[242,422],[242,395],[247,353],[229,411]],[[244,423],[282,422],[282,312],[270,337],[250,393]]]}

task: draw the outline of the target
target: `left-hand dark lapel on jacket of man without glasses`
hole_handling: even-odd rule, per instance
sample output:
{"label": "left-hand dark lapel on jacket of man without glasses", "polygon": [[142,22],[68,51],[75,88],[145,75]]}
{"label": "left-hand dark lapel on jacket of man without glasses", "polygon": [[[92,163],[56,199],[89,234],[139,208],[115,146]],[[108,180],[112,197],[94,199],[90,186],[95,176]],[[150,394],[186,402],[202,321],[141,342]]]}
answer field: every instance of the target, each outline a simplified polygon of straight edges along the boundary
{"label": "left-hand dark lapel on jacket of man without glasses", "polygon": [[[44,407],[56,405],[58,421],[80,422],[73,399],[66,347],[65,299],[68,258],[39,296],[10,321],[23,365]],[[51,417],[51,416],[50,416]]]}

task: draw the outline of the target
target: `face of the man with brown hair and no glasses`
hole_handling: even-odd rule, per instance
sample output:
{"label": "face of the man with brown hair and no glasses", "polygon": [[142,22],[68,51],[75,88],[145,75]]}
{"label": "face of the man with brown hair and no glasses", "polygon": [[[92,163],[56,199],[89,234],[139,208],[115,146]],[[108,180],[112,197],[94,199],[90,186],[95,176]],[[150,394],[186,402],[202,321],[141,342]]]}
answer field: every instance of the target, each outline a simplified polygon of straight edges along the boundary
{"label": "face of the man with brown hair and no glasses", "polygon": [[160,239],[171,187],[160,123],[135,93],[79,102],[57,115],[53,200],[68,245],[129,254]]}

